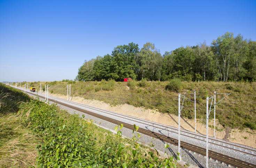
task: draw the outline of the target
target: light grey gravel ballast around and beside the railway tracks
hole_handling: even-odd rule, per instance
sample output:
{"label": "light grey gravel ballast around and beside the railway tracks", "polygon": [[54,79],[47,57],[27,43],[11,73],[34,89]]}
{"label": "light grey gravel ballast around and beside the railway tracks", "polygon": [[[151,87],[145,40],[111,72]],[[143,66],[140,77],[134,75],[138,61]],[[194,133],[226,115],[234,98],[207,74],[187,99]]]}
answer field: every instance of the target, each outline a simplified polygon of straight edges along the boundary
{"label": "light grey gravel ballast around and beside the railway tracks", "polygon": [[[26,90],[26,93],[30,94],[29,90]],[[35,92],[35,93],[37,93],[37,92]],[[45,96],[45,94],[40,94],[40,93],[37,93],[37,94],[41,95],[41,96]],[[32,94],[30,94],[30,95],[35,97]],[[127,124],[131,124],[131,125],[135,124],[135,125],[139,126],[140,128],[148,129],[150,131],[154,131],[156,133],[167,135],[169,137],[178,139],[177,128],[172,128],[170,126],[165,126],[165,125],[161,125],[161,124],[158,124],[158,123],[153,123],[151,121],[150,121],[149,124],[146,124],[147,123],[146,120],[143,120],[143,122],[140,123],[139,120],[137,120],[135,118],[133,118],[131,120],[131,118],[130,118],[131,116],[122,115],[122,117],[119,117],[118,116],[119,114],[117,114],[116,112],[111,112],[111,111],[107,111],[107,110],[103,110],[103,109],[101,109],[99,111],[97,109],[93,109],[93,107],[91,108],[90,106],[86,107],[84,104],[67,101],[67,100],[60,99],[60,98],[50,96],[50,95],[49,95],[49,99],[54,99],[54,100],[57,100],[59,102],[67,103],[71,106],[75,106],[75,107],[78,107],[78,108],[81,108],[81,109],[84,109],[84,110],[94,112],[96,114],[100,114],[100,115],[103,115],[103,116],[106,116],[106,117],[109,117],[109,118],[113,118],[115,120],[119,120],[119,121],[122,121],[122,122],[127,123]],[[45,100],[45,99],[40,98],[40,100]],[[49,103],[52,103],[52,102],[49,102]],[[109,129],[112,132],[115,132],[114,127],[116,126],[116,124],[110,123],[109,121],[105,121],[103,119],[85,114],[83,112],[71,109],[69,107],[66,107],[66,106],[63,106],[63,105],[60,105],[60,104],[58,104],[58,106],[60,106],[61,109],[67,110],[71,114],[73,114],[73,113],[79,114],[80,117],[82,117],[82,115],[85,115],[86,119],[93,120],[93,123],[97,124],[98,126],[103,127],[104,129]],[[156,125],[157,125],[157,127],[156,127]],[[160,127],[160,128],[158,128],[158,127]],[[161,127],[163,129],[161,129]],[[166,131],[164,128],[168,129],[170,131]],[[132,130],[128,129],[128,128],[123,128],[122,129],[122,134],[127,138],[133,137]],[[188,136],[197,137],[198,139],[201,139],[201,140],[196,140],[196,139],[188,137]],[[181,141],[183,141],[183,142],[187,142],[187,143],[194,144],[196,146],[200,146],[202,148],[205,148],[205,137],[201,137],[201,136],[197,136],[197,134],[195,134],[195,133],[183,131],[180,138],[181,138]],[[165,142],[163,142],[161,140],[158,140],[156,138],[152,138],[148,135],[144,135],[144,134],[141,134],[141,137],[139,138],[139,140],[144,145],[148,145],[148,144],[150,144],[150,142],[152,142],[155,145],[154,148],[157,149],[157,151],[160,153],[161,156],[163,156],[164,152],[167,152],[169,155],[172,155],[172,156],[177,155],[178,146],[176,146],[176,145],[169,144],[169,148],[167,150],[165,150],[165,148],[164,148]],[[226,143],[225,141],[222,141],[222,140],[218,140],[218,141]],[[214,142],[213,139],[209,140],[209,142],[216,143],[216,144],[221,144],[220,142]],[[227,143],[228,143],[228,146],[232,146],[232,143],[230,143],[230,142],[227,142]],[[238,144],[236,144],[236,145],[238,145]],[[243,148],[247,148],[247,151],[250,150],[250,149],[253,149],[253,148],[249,148],[249,147],[243,146],[243,145],[240,145],[240,146],[243,147]],[[214,144],[211,144],[211,143],[209,143],[209,150],[212,150],[212,151],[215,151],[215,152],[218,152],[218,153],[222,153],[222,154],[225,154],[227,156],[231,156],[233,158],[238,158],[240,160],[244,160],[244,161],[249,162],[249,163],[253,163],[253,164],[256,163],[256,157],[254,157],[250,154],[245,154],[245,153],[242,153],[242,152],[239,152],[239,151],[233,151],[233,150],[226,149],[224,147],[214,145]],[[241,148],[241,149],[237,149],[237,150],[242,151],[243,149]],[[252,154],[256,154],[256,153],[252,152]],[[191,165],[190,167],[206,167],[206,157],[201,155],[201,154],[197,154],[195,152],[192,152],[192,151],[181,148],[180,157],[181,157],[181,162],[180,162],[181,164],[188,163],[189,165]],[[224,168],[224,167],[233,167],[233,166],[227,165],[226,163],[223,163],[223,162],[219,162],[219,161],[214,160],[212,158],[208,158],[208,167],[209,168],[215,168],[215,167]]]}

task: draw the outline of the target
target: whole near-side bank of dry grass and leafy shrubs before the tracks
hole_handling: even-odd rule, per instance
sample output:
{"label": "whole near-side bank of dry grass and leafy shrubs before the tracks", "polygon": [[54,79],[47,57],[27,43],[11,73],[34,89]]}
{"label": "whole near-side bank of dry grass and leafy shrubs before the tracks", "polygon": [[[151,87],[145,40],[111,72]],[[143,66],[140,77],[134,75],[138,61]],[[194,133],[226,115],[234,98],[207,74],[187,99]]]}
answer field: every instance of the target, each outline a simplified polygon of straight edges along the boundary
{"label": "whole near-side bank of dry grass and leafy shrubs before the tracks", "polygon": [[123,125],[115,135],[9,86],[0,91],[0,167],[186,167],[179,154],[162,158],[139,144],[138,126],[122,138]]}

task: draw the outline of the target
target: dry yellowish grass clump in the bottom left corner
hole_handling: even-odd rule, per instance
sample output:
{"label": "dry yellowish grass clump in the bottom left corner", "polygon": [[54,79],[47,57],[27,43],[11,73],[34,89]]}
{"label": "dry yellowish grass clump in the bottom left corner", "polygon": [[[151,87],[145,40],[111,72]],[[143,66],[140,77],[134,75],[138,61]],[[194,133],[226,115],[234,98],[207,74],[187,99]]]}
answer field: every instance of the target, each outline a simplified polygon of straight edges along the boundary
{"label": "dry yellowish grass clump in the bottom left corner", "polygon": [[36,167],[39,139],[15,114],[0,117],[0,167]]}

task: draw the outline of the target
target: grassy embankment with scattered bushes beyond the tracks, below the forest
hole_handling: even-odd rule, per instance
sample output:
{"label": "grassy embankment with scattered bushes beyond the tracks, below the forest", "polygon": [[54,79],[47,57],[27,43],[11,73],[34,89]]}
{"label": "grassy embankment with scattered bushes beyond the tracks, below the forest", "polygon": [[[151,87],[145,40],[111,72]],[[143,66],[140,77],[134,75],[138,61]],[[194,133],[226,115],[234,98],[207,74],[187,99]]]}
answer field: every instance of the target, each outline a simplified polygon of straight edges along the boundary
{"label": "grassy embankment with scattered bushes beyond the tracks, below the forest", "polygon": [[[85,99],[95,99],[104,101],[113,106],[117,104],[131,104],[135,107],[145,107],[157,109],[163,113],[178,115],[178,94],[187,94],[183,102],[184,108],[181,111],[183,117],[194,118],[194,91],[196,91],[196,118],[205,123],[206,118],[206,97],[214,96],[216,91],[216,103],[228,93],[225,99],[216,105],[216,118],[224,127],[240,128],[245,127],[256,129],[256,83],[252,82],[182,82],[176,90],[166,90],[166,86],[172,85],[170,82],[115,82],[110,81],[54,81],[54,82],[30,82],[30,86],[37,87],[41,92],[46,85],[49,86],[49,93],[67,95],[67,85],[71,85],[72,96],[80,96]],[[24,82],[21,87],[24,88]],[[20,86],[20,83],[17,83]],[[172,88],[172,87],[170,87]],[[175,87],[174,87],[175,88]],[[221,94],[219,94],[221,93]],[[212,99],[211,99],[212,100]],[[209,102],[209,108],[211,104]],[[211,109],[213,109],[214,102]],[[214,118],[214,112],[210,112],[210,119]]]}

